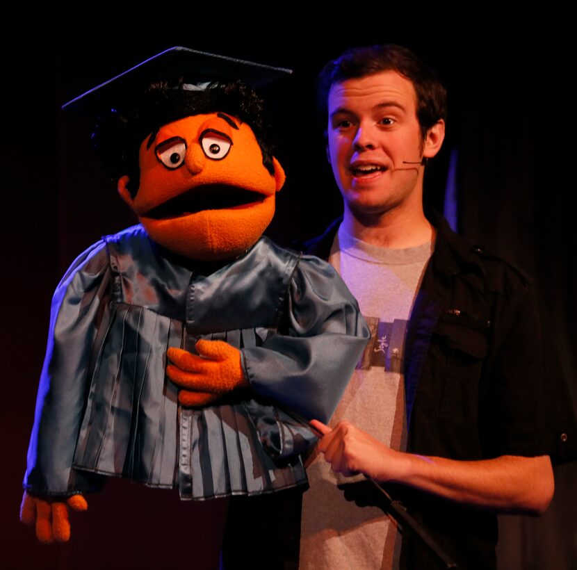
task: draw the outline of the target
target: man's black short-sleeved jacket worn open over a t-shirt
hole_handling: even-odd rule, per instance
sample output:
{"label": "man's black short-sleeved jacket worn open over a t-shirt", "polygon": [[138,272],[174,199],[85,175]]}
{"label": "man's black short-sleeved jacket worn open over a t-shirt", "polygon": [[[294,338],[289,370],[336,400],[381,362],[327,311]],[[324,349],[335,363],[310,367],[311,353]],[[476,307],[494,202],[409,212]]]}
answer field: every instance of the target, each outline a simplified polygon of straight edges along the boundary
{"label": "man's black short-sleeved jacket worn open over a t-shirt", "polygon": [[[461,460],[574,459],[576,422],[532,280],[466,243],[444,218],[429,218],[437,239],[405,344],[408,451]],[[307,252],[328,259],[339,222]],[[460,567],[496,566],[495,514],[403,487],[391,494]],[[402,566],[437,568],[406,533]]]}

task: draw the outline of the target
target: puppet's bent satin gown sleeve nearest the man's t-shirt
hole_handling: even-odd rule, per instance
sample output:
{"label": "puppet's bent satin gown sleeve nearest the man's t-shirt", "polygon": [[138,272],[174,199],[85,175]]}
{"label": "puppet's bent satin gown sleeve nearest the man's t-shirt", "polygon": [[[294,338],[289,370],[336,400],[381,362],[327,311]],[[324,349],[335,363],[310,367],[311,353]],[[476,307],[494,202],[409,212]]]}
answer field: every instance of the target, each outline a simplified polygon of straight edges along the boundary
{"label": "puppet's bent satin gown sleeve nearest the man's t-shirt", "polygon": [[286,334],[243,348],[251,388],[305,419],[327,422],[370,337],[357,301],[325,261],[303,256],[289,282]]}

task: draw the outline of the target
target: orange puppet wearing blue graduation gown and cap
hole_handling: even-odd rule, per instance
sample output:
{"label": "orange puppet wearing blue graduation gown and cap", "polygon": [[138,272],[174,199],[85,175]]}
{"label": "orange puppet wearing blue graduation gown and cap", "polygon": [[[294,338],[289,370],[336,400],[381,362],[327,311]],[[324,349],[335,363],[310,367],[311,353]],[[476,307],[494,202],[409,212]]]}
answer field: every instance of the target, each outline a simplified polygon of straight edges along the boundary
{"label": "orange puppet wearing blue graduation gown and cap", "polygon": [[40,540],[107,475],[197,500],[306,485],[302,418],[330,418],[368,331],[327,263],[263,237],[284,172],[246,83],[285,72],[173,48],[68,104],[101,115],[140,223],[54,293],[22,507]]}

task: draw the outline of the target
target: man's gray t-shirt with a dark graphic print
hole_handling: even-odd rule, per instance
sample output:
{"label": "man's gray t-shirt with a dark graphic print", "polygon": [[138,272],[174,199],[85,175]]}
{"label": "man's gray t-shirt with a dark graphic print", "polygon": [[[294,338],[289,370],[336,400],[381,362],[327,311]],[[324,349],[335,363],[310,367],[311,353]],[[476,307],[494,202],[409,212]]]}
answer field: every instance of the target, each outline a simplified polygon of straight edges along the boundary
{"label": "man's gray t-shirt with a dark graphic print", "polygon": [[[330,263],[357,298],[371,341],[330,425],[346,419],[387,443],[406,447],[403,350],[407,320],[432,243],[396,250],[361,242],[339,228]],[[337,488],[362,480],[333,473],[322,455],[307,465],[311,488],[303,496],[300,568],[392,569],[400,535],[378,507],[359,507]]]}

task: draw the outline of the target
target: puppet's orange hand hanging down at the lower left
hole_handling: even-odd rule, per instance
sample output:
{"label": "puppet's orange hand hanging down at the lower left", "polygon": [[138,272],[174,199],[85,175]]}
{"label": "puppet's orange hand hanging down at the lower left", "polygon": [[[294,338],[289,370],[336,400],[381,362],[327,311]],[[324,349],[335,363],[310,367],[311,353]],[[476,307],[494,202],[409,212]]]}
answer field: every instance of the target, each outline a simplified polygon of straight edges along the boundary
{"label": "puppet's orange hand hanging down at the lower left", "polygon": [[24,491],[20,505],[20,520],[36,526],[36,537],[40,542],[67,542],[70,539],[68,508],[86,511],[88,503],[82,495],[72,495],[66,500],[33,497]]}

